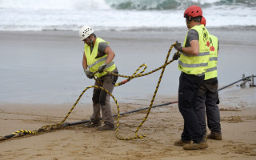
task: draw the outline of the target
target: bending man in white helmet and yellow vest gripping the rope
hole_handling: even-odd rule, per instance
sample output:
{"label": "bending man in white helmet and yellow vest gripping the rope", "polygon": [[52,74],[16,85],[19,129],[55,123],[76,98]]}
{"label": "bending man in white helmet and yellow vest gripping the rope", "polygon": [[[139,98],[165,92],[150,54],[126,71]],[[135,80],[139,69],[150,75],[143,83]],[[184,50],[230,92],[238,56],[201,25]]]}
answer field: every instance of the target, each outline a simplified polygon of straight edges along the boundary
{"label": "bending man in white helmet and yellow vest gripping the rope", "polygon": [[[109,43],[102,38],[97,38],[94,30],[90,26],[82,26],[79,30],[79,37],[84,42],[84,53],[82,58],[82,67],[87,78],[97,78],[94,86],[102,86],[110,93],[114,90],[114,84],[118,76],[107,74],[106,71],[118,74],[118,69],[114,64],[114,51],[111,50]],[[93,72],[98,71],[97,74]],[[98,127],[98,130],[114,130],[114,119],[110,105],[110,94],[106,91],[94,88],[93,94],[94,112],[90,116],[90,122],[85,126]],[[101,110],[104,126],[101,126]]]}

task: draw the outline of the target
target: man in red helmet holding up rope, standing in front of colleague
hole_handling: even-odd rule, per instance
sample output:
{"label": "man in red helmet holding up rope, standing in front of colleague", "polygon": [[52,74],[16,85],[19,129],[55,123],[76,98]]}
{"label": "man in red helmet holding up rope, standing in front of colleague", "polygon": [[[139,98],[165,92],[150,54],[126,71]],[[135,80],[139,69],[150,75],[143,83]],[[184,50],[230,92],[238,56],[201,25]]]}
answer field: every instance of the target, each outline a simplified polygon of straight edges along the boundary
{"label": "man in red helmet holding up rope, standing in front of colleague", "polygon": [[201,25],[202,9],[190,6],[184,12],[188,32],[183,45],[176,41],[174,48],[178,50],[173,59],[178,60],[178,70],[182,73],[178,86],[178,109],[184,119],[181,139],[174,146],[183,146],[185,150],[207,148],[205,136],[199,126],[196,110],[198,90],[205,78],[209,61],[209,32]]}

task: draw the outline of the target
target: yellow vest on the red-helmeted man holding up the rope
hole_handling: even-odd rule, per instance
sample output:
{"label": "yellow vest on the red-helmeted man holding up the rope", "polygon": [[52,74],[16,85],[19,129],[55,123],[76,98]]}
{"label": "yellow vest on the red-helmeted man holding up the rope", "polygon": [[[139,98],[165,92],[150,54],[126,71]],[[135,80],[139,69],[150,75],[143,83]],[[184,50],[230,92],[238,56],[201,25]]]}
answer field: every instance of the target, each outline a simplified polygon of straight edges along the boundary
{"label": "yellow vest on the red-helmeted man holding up the rope", "polygon": [[[209,61],[209,32],[203,25],[194,26],[191,29],[194,29],[198,32],[199,53],[198,55],[182,53],[178,61],[178,69],[182,70],[182,72],[185,72],[186,74],[194,74],[199,76],[206,72],[206,67]],[[183,47],[186,46],[186,38],[183,42]]]}

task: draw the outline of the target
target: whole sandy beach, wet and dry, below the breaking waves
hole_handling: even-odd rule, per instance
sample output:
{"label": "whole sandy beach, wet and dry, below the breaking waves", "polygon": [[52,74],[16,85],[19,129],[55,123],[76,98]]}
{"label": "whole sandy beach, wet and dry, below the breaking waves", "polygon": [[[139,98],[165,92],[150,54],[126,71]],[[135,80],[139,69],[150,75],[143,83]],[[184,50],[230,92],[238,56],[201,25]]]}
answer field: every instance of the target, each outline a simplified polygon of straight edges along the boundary
{"label": "whole sandy beach, wet and dry, below the breaking waves", "polygon": [[[255,73],[255,28],[212,28],[221,43],[218,57],[219,86]],[[176,40],[186,29],[99,31],[116,53],[119,74],[131,75],[142,63],[147,71],[162,66]],[[74,31],[0,32],[0,135],[16,130],[36,130],[61,122],[79,94],[93,81],[82,70],[82,42]],[[160,72],[134,79],[114,89],[120,112],[148,107]],[[154,105],[177,98],[177,62],[166,67]],[[122,78],[118,79],[118,82]],[[66,122],[90,118],[88,90]],[[256,88],[230,86],[220,91],[222,141],[208,140],[209,148],[188,151],[174,146],[182,134],[178,104],[152,109],[139,130],[146,138],[122,141],[114,131],[82,125],[66,126],[45,134],[0,142],[0,159],[255,159]],[[117,106],[112,101],[112,110]],[[119,133],[134,136],[146,110],[121,117]],[[116,119],[115,119],[116,122]],[[209,130],[208,130],[209,132]]]}

